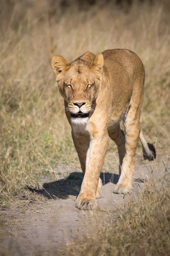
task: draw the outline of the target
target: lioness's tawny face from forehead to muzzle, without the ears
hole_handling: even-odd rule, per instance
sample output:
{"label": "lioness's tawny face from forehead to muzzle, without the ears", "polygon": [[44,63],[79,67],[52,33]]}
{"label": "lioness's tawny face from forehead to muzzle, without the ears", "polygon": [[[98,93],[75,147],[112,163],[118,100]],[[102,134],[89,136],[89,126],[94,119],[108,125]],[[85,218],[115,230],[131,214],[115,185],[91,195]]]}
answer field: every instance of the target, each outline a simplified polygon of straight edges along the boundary
{"label": "lioness's tawny face from forehead to muzzle, without the ears", "polygon": [[91,105],[99,91],[100,81],[85,64],[72,65],[59,81],[61,94],[68,102],[69,111],[89,113]]}

